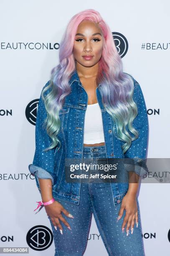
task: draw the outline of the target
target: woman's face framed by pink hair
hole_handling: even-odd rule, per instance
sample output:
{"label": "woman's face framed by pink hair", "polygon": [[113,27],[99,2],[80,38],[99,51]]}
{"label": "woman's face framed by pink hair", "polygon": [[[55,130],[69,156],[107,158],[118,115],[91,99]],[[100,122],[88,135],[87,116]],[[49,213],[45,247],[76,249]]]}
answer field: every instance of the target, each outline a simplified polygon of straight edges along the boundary
{"label": "woman's face framed by pink hair", "polygon": [[83,20],[77,28],[74,39],[74,58],[84,67],[94,66],[101,58],[103,41],[103,33],[99,25]]}

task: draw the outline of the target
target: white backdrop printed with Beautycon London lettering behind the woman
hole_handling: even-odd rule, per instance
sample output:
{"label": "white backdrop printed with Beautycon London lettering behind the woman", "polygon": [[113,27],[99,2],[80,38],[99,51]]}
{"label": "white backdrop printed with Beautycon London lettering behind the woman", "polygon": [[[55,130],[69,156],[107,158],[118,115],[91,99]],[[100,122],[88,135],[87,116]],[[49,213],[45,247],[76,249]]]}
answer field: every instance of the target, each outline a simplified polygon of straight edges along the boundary
{"label": "white backdrop printed with Beautycon London lettering behind the woman", "polygon": [[[51,69],[58,64],[58,50],[53,45],[60,43],[73,15],[88,8],[98,10],[112,32],[121,33],[128,41],[122,61],[124,72],[140,83],[145,97],[150,127],[147,157],[169,158],[170,2],[1,0],[0,3],[0,247],[28,247],[26,237],[31,228],[44,225],[51,229],[44,208],[38,214],[33,212],[36,201],[41,200],[28,170],[35,150],[35,112],[27,119],[25,110],[32,100],[40,97]],[[43,49],[43,44],[48,49]],[[142,44],[153,46],[142,49]],[[169,188],[169,184],[140,186],[138,198],[146,256],[170,255]],[[107,255],[98,236],[93,218],[84,255]],[[31,256],[54,255],[54,243],[42,251],[37,248],[29,251]]]}

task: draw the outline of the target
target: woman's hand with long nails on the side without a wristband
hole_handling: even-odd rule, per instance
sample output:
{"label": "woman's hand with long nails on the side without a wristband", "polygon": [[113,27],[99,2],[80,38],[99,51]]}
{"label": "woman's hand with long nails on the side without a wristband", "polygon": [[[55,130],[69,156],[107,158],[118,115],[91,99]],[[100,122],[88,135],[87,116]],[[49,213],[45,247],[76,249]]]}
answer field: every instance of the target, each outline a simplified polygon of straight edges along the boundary
{"label": "woman's hand with long nails on the side without a wristband", "polygon": [[125,225],[127,223],[126,233],[128,236],[130,227],[131,227],[131,234],[133,233],[135,221],[136,221],[136,225],[138,226],[136,195],[132,195],[127,192],[127,194],[123,197],[117,221],[122,217],[124,210],[126,211],[126,215],[124,216],[124,221],[122,224],[122,232],[124,232]]}

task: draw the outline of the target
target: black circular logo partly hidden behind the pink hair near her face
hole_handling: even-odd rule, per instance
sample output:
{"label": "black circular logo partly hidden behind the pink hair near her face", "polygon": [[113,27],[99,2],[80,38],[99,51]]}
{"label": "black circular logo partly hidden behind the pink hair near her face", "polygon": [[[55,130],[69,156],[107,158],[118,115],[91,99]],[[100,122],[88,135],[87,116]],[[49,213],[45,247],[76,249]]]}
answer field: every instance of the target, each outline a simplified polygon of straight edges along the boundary
{"label": "black circular logo partly hidden behind the pink hair near her face", "polygon": [[128,42],[124,35],[122,35],[119,32],[112,32],[112,36],[114,39],[114,44],[117,48],[117,51],[119,53],[119,56],[123,58],[128,50]]}

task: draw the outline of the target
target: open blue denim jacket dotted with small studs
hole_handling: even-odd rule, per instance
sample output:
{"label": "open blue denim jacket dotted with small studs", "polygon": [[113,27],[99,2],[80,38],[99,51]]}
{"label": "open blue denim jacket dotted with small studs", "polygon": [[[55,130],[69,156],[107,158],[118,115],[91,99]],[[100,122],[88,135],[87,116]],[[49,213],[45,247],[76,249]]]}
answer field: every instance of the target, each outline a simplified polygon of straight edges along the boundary
{"label": "open blue denim jacket dotted with small studs", "polygon": [[[147,109],[141,87],[134,78],[133,81],[133,99],[138,108],[138,114],[133,121],[133,126],[140,134],[136,140],[132,141],[130,148],[125,154],[122,153],[122,141],[117,139],[112,132],[112,128],[114,127],[116,129],[116,126],[111,115],[107,113],[107,110],[104,108],[100,93],[101,84],[96,88],[96,97],[102,115],[107,158],[145,159],[146,157],[148,136]],[[44,87],[46,87],[49,82],[50,81],[48,81]],[[52,193],[55,200],[65,200],[79,205],[81,179],[77,183],[67,183],[64,175],[64,164],[66,158],[83,158],[84,118],[88,95],[80,82],[76,70],[72,74],[69,84],[71,86],[71,93],[65,97],[63,109],[59,112],[61,128],[57,136],[61,141],[61,147],[59,148],[60,145],[58,143],[56,148],[43,152],[44,148],[51,145],[52,140],[48,136],[46,129],[43,128],[43,122],[46,119],[47,113],[43,99],[40,97],[36,118],[36,150],[33,164],[29,164],[28,168],[30,173],[35,175],[36,185],[40,193],[41,190],[38,178],[51,179]],[[127,193],[128,186],[128,183],[111,183],[115,206],[117,202],[121,202],[122,198]]]}

